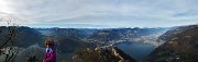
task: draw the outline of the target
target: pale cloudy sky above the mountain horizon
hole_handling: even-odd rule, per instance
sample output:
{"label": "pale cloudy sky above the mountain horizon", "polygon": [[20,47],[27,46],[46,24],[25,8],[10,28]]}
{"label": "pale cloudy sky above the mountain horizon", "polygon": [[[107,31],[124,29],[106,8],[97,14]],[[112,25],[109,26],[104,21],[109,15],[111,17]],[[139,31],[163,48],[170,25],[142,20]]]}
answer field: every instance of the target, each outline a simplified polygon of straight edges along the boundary
{"label": "pale cloudy sky above the mountain horizon", "polygon": [[198,0],[0,0],[0,25],[172,27],[198,24]]}

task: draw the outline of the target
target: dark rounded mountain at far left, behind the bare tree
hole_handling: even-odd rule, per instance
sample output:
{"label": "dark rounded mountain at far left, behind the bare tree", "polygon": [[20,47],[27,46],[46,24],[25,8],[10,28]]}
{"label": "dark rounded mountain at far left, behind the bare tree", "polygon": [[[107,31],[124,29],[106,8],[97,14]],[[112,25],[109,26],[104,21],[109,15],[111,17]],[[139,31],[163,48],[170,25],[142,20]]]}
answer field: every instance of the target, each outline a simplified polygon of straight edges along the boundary
{"label": "dark rounded mountain at far left, behind the bare tree", "polygon": [[[10,30],[10,32],[9,32]],[[0,26],[0,45],[6,42],[8,37],[12,37],[14,46],[29,47],[43,41],[43,36],[34,28],[26,26]],[[8,42],[8,45],[11,42]]]}

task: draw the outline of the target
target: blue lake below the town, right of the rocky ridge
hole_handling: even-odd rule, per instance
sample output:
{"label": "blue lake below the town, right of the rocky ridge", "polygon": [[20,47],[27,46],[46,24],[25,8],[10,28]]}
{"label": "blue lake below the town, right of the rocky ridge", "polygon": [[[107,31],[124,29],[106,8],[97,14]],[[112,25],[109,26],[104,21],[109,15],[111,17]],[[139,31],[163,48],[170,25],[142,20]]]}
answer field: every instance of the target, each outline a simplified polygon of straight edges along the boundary
{"label": "blue lake below the town, right of the rocky ridge", "polygon": [[156,47],[154,45],[130,42],[130,41],[119,42],[116,46],[138,61],[148,55]]}

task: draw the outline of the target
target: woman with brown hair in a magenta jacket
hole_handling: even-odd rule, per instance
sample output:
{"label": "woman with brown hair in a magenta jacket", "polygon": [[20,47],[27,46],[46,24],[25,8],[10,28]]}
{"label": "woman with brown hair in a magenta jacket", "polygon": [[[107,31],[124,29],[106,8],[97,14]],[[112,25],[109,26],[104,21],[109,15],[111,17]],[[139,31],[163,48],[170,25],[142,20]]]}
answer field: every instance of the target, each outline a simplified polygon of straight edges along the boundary
{"label": "woman with brown hair in a magenta jacket", "polygon": [[52,39],[45,40],[46,52],[43,62],[56,62],[56,50]]}

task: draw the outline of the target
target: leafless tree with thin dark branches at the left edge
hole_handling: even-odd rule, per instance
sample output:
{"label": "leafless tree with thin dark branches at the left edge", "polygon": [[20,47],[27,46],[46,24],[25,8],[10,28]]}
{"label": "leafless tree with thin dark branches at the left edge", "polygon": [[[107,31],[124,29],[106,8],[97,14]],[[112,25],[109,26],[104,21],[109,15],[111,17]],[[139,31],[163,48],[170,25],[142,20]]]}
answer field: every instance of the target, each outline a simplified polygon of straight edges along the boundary
{"label": "leafless tree with thin dark branches at the left edge", "polygon": [[18,35],[20,32],[18,30],[18,25],[14,23],[16,18],[13,17],[2,17],[1,22],[7,22],[6,29],[1,29],[0,34],[0,53],[4,57],[4,62],[13,62],[16,54],[19,53],[19,48],[15,47],[15,42]]}

